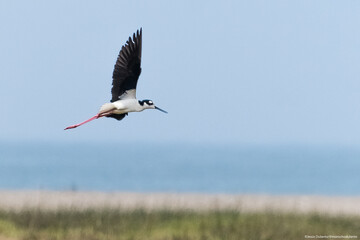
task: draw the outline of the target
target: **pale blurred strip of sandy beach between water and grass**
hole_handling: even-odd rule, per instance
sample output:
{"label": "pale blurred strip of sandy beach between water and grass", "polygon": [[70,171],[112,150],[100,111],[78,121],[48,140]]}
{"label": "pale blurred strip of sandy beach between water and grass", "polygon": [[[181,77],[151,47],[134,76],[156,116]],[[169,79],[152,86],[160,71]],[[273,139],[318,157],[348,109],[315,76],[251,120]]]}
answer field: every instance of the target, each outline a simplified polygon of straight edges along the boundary
{"label": "pale blurred strip of sandy beach between water and grass", "polygon": [[360,215],[360,197],[77,191],[0,191],[0,209],[236,210]]}

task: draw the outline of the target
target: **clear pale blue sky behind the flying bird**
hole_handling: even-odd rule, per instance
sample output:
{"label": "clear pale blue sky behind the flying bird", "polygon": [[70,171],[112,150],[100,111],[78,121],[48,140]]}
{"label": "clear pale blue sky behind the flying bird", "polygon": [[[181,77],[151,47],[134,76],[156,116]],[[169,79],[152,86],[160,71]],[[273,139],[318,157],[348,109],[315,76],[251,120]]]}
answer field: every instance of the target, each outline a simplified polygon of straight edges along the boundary
{"label": "clear pale blue sky behind the flying bird", "polygon": [[[359,1],[0,1],[0,140],[360,145]],[[147,110],[110,100],[143,28]]]}

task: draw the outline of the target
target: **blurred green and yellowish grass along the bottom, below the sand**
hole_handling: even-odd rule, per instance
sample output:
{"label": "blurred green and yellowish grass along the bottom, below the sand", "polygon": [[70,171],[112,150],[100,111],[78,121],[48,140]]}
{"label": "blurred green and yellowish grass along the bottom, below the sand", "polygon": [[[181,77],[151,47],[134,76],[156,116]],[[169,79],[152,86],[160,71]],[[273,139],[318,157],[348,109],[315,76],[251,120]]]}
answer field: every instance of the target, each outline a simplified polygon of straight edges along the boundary
{"label": "blurred green and yellowish grass along the bottom, below the sand", "polygon": [[360,217],[232,211],[0,211],[0,240],[305,239],[359,235]]}

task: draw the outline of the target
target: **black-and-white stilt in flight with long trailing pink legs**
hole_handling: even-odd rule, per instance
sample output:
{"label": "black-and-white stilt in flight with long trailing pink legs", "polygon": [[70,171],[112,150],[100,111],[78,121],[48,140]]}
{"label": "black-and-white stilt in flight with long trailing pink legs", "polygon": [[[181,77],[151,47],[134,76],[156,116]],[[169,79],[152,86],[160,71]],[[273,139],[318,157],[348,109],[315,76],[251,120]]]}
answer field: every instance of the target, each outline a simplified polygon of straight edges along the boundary
{"label": "black-and-white stilt in flight with long trailing pink legs", "polygon": [[113,87],[111,89],[112,99],[110,103],[101,106],[100,111],[94,117],[65,128],[72,129],[100,117],[112,117],[122,120],[128,112],[141,112],[145,109],[158,109],[151,100],[136,99],[136,85],[141,73],[141,43],[142,29],[129,37],[126,44],[122,46],[113,72]]}

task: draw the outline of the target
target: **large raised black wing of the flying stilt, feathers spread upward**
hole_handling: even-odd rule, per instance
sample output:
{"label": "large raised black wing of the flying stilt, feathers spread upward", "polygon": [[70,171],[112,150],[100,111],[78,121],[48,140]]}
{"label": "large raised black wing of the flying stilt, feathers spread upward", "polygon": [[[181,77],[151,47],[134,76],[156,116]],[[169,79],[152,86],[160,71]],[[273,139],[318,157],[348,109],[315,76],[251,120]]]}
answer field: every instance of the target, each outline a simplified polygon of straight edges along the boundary
{"label": "large raised black wing of the flying stilt, feathers spread upward", "polygon": [[122,46],[116,60],[113,72],[113,87],[111,89],[111,102],[119,100],[120,96],[130,89],[136,89],[136,84],[141,73],[141,44],[142,29],[129,37]]}

